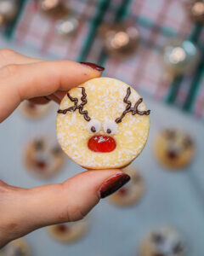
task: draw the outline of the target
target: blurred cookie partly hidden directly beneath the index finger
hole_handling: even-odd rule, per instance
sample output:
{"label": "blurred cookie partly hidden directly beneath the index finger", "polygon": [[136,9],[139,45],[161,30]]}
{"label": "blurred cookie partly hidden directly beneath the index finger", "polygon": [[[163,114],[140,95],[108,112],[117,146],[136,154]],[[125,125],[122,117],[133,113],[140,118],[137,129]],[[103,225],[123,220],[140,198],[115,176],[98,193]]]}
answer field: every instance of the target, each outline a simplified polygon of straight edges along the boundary
{"label": "blurred cookie partly hidden directly beneath the index finger", "polygon": [[24,101],[20,103],[20,112],[23,113],[27,118],[37,119],[48,113],[52,106],[52,102],[47,104],[34,104],[30,101]]}

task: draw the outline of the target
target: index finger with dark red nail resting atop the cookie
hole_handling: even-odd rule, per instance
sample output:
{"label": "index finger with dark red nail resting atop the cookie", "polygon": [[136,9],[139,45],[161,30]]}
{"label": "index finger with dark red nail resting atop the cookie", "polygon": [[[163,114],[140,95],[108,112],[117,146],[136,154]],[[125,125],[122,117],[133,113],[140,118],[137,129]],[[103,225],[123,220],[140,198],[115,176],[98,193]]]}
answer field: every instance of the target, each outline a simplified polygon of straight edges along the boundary
{"label": "index finger with dark red nail resting atop the cookie", "polygon": [[25,99],[70,90],[101,75],[103,67],[75,61],[42,61],[8,65],[0,69],[0,121]]}

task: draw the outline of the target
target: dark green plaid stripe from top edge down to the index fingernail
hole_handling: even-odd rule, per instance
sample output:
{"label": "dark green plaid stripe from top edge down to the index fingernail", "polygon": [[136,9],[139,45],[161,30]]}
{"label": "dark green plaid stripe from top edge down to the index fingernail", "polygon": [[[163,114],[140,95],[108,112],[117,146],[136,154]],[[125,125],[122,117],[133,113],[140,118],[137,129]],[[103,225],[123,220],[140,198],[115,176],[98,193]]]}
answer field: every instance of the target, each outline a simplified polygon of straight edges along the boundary
{"label": "dark green plaid stripe from top edge down to the index fingernail", "polygon": [[102,0],[99,1],[96,14],[94,15],[93,20],[90,21],[88,36],[85,39],[85,43],[83,44],[82,50],[77,58],[77,61],[85,61],[88,52],[91,49],[92,43],[94,41],[95,33],[97,31],[98,26],[103,21],[106,10],[109,8],[111,1],[110,0]]}

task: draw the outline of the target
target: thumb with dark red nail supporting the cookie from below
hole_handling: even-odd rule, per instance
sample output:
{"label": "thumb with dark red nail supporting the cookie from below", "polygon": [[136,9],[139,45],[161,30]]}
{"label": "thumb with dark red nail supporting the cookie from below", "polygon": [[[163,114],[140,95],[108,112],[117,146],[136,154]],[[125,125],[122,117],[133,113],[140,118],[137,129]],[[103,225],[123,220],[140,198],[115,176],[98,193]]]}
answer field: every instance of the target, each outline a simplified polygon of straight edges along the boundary
{"label": "thumb with dark red nail supporting the cookie from below", "polygon": [[[1,218],[8,241],[50,224],[83,218],[101,198],[111,195],[129,181],[120,170],[82,172],[65,183],[33,189],[4,189],[0,201]],[[0,186],[4,186],[5,184]],[[1,188],[0,188],[1,189]],[[5,201],[3,201],[5,199]],[[1,234],[0,234],[1,241]]]}

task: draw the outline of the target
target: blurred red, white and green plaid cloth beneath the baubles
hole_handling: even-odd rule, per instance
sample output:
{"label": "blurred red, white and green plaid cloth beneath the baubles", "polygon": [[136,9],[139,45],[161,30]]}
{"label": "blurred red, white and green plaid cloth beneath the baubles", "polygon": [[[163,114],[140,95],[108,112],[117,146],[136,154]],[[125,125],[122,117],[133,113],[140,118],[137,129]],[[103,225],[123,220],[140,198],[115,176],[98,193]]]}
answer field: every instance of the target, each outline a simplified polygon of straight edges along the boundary
{"label": "blurred red, white and green plaid cloth beneath the baubles", "polygon": [[[43,16],[37,3],[25,2],[9,33],[17,44],[38,49],[42,55],[105,65],[105,76],[133,85],[143,95],[175,104],[204,119],[204,30],[188,17],[184,0],[67,0],[81,22],[70,38],[54,31],[54,20]],[[23,6],[23,4],[21,3]],[[105,55],[98,28],[103,22],[131,20],[138,26],[141,44],[130,59],[118,61]],[[201,47],[201,61],[190,76],[170,83],[161,67],[160,49],[170,38],[190,38]]]}

